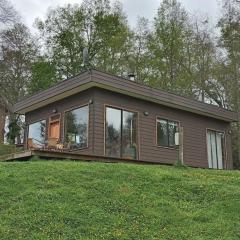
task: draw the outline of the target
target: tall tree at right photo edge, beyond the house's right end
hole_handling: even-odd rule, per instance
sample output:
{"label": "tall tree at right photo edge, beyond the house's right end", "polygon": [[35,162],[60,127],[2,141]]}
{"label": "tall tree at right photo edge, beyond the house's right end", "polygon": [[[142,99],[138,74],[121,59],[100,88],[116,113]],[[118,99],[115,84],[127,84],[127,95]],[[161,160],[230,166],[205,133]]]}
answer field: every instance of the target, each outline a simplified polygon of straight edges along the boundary
{"label": "tall tree at right photo edge, beyond the house's right end", "polygon": [[[222,82],[228,105],[240,116],[240,4],[223,1],[223,14],[218,22],[220,43],[225,50],[219,80]],[[235,165],[240,163],[240,119],[233,126],[233,156]]]}

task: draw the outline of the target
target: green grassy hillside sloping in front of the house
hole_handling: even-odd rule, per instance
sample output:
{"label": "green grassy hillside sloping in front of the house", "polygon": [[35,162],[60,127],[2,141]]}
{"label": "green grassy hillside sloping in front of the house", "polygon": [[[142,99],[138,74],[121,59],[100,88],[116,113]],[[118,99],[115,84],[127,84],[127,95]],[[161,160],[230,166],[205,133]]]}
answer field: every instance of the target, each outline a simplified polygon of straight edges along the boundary
{"label": "green grassy hillside sloping in front of the house", "polygon": [[240,239],[240,173],[0,163],[0,239]]}

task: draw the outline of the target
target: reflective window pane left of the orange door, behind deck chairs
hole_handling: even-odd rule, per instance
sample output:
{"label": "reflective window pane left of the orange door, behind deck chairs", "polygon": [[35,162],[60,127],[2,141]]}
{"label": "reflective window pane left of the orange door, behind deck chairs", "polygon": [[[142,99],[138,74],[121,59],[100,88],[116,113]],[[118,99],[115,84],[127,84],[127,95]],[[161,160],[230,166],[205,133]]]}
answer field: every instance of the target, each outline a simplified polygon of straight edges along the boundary
{"label": "reflective window pane left of the orange door, behind deck chairs", "polygon": [[[35,148],[43,147],[45,144],[46,120],[35,122],[28,127],[28,139]],[[30,141],[31,140],[31,141]]]}

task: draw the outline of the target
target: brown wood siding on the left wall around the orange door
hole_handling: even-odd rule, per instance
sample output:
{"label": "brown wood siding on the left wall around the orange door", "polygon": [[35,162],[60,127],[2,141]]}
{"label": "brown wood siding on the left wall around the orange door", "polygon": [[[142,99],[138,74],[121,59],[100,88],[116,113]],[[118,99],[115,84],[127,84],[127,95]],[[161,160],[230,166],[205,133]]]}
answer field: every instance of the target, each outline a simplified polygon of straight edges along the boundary
{"label": "brown wood siding on the left wall around the orange door", "polygon": [[[52,113],[52,110],[57,109],[57,112],[61,113],[60,140],[63,141],[65,111],[88,104],[89,100],[92,99],[92,97],[93,97],[93,90],[86,90],[79,94],[57,101],[53,104],[49,104],[45,107],[39,108],[38,110],[28,112],[26,114],[26,123],[27,125],[29,125],[33,122],[45,119],[47,121],[47,128],[46,128],[46,137],[47,137],[49,118],[55,115],[54,113]],[[92,154],[92,149],[93,149],[92,136],[93,136],[93,104],[90,104],[89,105],[88,147],[81,150],[74,150],[74,152],[75,153],[79,152],[82,154]]]}

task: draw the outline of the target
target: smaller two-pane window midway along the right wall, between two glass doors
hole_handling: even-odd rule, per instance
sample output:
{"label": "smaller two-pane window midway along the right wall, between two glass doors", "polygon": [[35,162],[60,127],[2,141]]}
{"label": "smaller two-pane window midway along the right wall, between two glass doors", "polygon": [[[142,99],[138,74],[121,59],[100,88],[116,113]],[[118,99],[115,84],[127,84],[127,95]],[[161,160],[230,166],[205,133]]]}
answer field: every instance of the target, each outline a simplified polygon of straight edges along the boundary
{"label": "smaller two-pane window midway along the right wall, between two glass doors", "polygon": [[167,119],[157,119],[157,145],[162,147],[175,146],[175,133],[178,123]]}

